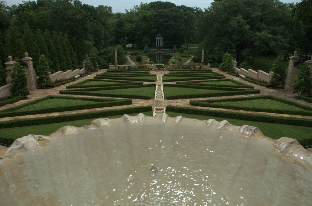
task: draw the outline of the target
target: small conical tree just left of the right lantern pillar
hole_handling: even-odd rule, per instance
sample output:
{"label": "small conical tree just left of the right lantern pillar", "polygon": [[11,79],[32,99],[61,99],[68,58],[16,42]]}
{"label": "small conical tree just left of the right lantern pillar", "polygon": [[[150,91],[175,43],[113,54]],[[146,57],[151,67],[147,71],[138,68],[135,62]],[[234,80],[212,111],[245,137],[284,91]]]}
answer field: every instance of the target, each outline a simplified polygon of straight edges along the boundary
{"label": "small conical tree just left of the right lantern pillar", "polygon": [[274,60],[270,84],[273,84],[274,87],[285,84],[286,70],[287,65],[284,61],[284,55],[279,54]]}

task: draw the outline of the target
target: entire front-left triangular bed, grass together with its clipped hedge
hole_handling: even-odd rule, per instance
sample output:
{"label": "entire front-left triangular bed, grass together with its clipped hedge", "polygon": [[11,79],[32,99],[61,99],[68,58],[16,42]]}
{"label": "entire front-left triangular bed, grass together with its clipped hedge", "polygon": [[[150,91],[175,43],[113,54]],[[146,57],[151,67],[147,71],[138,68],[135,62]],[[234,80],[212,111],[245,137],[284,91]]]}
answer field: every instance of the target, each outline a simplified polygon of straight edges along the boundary
{"label": "entire front-left triangular bed, grass together with its clipped hedge", "polygon": [[[50,101],[50,102],[49,102]],[[35,115],[51,112],[130,105],[131,100],[101,99],[72,96],[46,96],[31,102],[1,110],[0,117]]]}

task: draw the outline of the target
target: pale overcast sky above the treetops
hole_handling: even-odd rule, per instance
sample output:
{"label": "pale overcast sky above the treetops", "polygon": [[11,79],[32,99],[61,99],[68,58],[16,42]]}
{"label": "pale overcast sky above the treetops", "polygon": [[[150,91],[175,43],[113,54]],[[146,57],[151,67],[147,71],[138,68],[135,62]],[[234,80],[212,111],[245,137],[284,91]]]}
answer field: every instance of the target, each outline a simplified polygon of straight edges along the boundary
{"label": "pale overcast sky above the treetops", "polygon": [[[11,6],[12,4],[19,4],[22,3],[22,0],[5,0],[7,2],[7,5]],[[131,9],[134,7],[134,5],[139,5],[140,2],[149,3],[154,1],[144,1],[144,0],[80,0],[82,3],[98,6],[98,5],[104,5],[104,6],[111,6],[114,13],[117,12],[125,12],[125,9]],[[291,2],[301,2],[301,0],[281,0],[284,3],[291,3]],[[188,7],[200,7],[202,9],[207,8],[212,0],[168,0],[168,1],[162,1],[162,2],[172,2],[176,5],[185,5]]]}

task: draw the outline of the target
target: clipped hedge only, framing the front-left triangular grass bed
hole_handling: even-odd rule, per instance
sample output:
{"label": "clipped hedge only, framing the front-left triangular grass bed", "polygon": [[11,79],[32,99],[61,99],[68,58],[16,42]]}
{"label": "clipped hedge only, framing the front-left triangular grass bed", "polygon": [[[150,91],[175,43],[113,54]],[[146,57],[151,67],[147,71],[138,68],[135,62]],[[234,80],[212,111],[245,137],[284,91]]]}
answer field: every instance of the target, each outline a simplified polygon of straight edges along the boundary
{"label": "clipped hedge only, framing the front-left triangular grass bed", "polygon": [[[45,101],[48,99],[68,99],[68,100],[85,100],[85,101],[94,101],[94,104],[85,104],[85,105],[76,105],[76,106],[66,106],[66,107],[49,107],[44,109],[36,109],[31,111],[17,111],[23,107],[37,104],[38,102]],[[98,102],[98,103],[96,103]],[[71,110],[84,110],[90,108],[99,108],[99,107],[109,107],[109,106],[119,106],[119,105],[130,105],[132,100],[127,99],[101,99],[101,98],[90,98],[90,97],[72,97],[72,96],[46,96],[31,102],[24,103],[22,105],[17,105],[14,107],[1,110],[0,117],[12,117],[12,116],[22,116],[22,115],[34,115],[34,114],[43,114],[51,112],[62,112],[62,111],[71,111]]]}

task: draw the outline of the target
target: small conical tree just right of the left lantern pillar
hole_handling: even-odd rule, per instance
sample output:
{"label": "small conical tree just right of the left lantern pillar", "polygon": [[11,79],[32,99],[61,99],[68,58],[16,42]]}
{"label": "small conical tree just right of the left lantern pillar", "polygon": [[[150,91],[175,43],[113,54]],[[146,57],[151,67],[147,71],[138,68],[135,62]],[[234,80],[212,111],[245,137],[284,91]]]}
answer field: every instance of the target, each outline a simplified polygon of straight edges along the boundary
{"label": "small conical tree just right of the left lantern pillar", "polygon": [[40,87],[44,88],[46,87],[46,85],[51,83],[49,72],[50,72],[50,67],[49,67],[48,60],[43,54],[41,54],[39,61],[38,61],[37,70],[36,70],[37,76],[39,76],[37,83]]}

